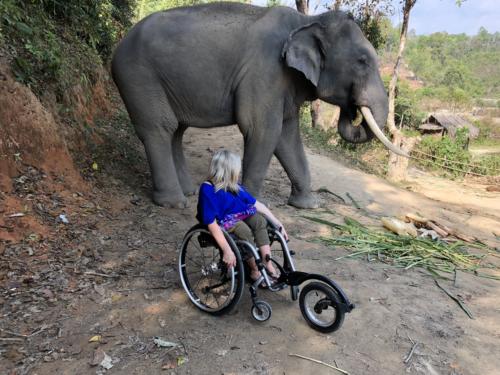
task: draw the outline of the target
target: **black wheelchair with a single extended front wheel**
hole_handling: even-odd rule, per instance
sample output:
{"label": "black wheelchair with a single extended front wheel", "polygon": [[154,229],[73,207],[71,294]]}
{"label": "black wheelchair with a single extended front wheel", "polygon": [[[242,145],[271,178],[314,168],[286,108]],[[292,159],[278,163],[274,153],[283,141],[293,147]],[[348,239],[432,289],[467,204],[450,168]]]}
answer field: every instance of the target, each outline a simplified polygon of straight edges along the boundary
{"label": "black wheelchair with a single extended front wheel", "polygon": [[[274,283],[253,244],[223,231],[236,256],[236,266],[229,268],[222,261],[222,251],[206,226],[198,224],[189,229],[180,248],[179,275],[191,302],[209,314],[226,314],[241,300],[248,282],[252,298],[251,314],[255,320],[265,322],[271,317],[271,305],[257,296],[259,285],[265,282],[266,290],[271,292],[289,287],[291,299],[299,300],[302,316],[313,329],[323,333],[339,329],[345,313],[350,312],[354,305],[340,286],[328,277],[297,271],[293,262],[294,252],[288,248],[280,228],[268,220],[267,229],[271,242],[271,257],[268,260],[280,273]],[[245,277],[250,274],[245,261],[249,256],[255,258],[261,273],[255,281]],[[306,285],[300,290],[299,286],[303,283]]]}

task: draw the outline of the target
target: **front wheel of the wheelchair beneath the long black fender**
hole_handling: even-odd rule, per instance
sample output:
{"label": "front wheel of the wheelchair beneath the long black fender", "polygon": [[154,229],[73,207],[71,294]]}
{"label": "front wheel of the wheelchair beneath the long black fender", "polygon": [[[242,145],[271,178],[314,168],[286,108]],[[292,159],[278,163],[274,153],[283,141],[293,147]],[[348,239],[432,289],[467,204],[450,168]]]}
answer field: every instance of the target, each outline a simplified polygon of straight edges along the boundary
{"label": "front wheel of the wheelchair beneath the long black fender", "polygon": [[304,319],[319,332],[334,332],[344,321],[337,293],[324,283],[307,284],[300,292],[299,305]]}

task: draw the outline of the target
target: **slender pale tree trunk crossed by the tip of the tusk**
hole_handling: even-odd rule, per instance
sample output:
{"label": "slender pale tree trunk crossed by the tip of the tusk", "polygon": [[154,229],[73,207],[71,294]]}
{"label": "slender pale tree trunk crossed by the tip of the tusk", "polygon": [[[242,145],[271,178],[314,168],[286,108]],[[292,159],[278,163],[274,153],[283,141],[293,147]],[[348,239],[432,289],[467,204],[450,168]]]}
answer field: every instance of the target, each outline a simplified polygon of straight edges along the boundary
{"label": "slender pale tree trunk crossed by the tip of the tusk", "polygon": [[[398,83],[399,65],[403,58],[403,51],[406,46],[406,34],[408,33],[408,23],[410,21],[410,11],[417,0],[405,0],[403,8],[403,25],[401,27],[401,36],[399,39],[399,49],[394,64],[391,82],[389,83],[389,115],[387,118],[387,128],[392,135],[392,143],[409,153],[417,143],[416,138],[406,139],[403,134],[396,128],[395,123],[395,101],[396,101],[396,86]],[[398,156],[389,152],[389,165],[387,170],[387,178],[391,181],[403,181],[406,179],[408,169],[408,159],[404,156]]]}

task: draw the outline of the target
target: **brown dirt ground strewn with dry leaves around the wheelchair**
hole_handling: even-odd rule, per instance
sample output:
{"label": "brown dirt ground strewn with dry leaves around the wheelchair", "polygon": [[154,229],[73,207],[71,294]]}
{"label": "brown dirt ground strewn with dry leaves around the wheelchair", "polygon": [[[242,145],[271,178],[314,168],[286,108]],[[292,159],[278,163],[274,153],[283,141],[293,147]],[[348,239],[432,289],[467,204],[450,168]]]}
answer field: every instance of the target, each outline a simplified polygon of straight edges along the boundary
{"label": "brown dirt ground strewn with dry leaves around the wheelchair", "polygon": [[[349,374],[499,373],[498,281],[461,272],[455,284],[441,281],[466,302],[475,317],[469,319],[424,271],[362,259],[335,260],[346,251],[311,242],[328,229],[302,217],[321,209],[297,210],[285,204],[289,181],[275,160],[263,200],[286,225],[298,268],[337,281],[356,309],[330,335],[307,326],[288,290],[261,292],[273,307],[267,323],[252,319],[248,292],[230,315],[198,311],[176,270],[179,244],[195,224],[197,198],[190,197],[184,210],[151,202],[141,145],[127,126],[104,129],[109,137],[101,146],[99,171],[87,176],[92,190],[74,191],[78,210],[66,209],[68,224],[53,224],[68,241],[46,243],[49,256],[40,257],[29,275],[25,259],[30,248],[36,257],[40,246],[7,244],[0,254],[8,276],[0,296],[2,373],[340,373],[291,353]],[[203,181],[211,152],[222,146],[241,150],[236,127],[188,130],[185,147],[197,183]],[[419,212],[499,246],[492,232],[500,230],[500,193],[415,174],[401,188],[327,155],[308,151],[308,159],[314,189],[326,187],[348,202],[318,193],[321,207],[335,212],[332,220],[340,222],[347,215],[374,224],[377,216]],[[435,193],[426,197],[426,190]],[[361,210],[350,204],[346,192]],[[100,339],[89,342],[96,335]],[[156,347],[154,337],[180,346]],[[109,370],[97,365],[104,352],[111,358]]]}

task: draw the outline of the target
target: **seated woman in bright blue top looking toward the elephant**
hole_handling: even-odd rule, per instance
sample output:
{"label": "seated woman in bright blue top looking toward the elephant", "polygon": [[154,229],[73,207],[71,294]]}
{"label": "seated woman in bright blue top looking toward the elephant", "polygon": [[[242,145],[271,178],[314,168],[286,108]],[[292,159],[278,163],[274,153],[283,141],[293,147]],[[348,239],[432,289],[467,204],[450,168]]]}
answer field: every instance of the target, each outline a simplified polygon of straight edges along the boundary
{"label": "seated woman in bright blue top looking toward the elephant", "polygon": [[[208,179],[200,186],[196,218],[208,226],[208,230],[222,249],[222,260],[229,267],[236,265],[236,257],[221,227],[242,240],[255,243],[271,278],[277,278],[278,275],[272,262],[265,261],[266,255],[271,255],[271,247],[267,234],[267,222],[263,215],[281,228],[286,239],[288,235],[283,224],[271,211],[238,184],[240,171],[241,159],[237,154],[228,150],[219,150],[214,154],[210,162]],[[255,260],[252,258],[248,264],[250,278],[257,280],[260,272]]]}

